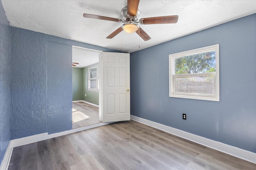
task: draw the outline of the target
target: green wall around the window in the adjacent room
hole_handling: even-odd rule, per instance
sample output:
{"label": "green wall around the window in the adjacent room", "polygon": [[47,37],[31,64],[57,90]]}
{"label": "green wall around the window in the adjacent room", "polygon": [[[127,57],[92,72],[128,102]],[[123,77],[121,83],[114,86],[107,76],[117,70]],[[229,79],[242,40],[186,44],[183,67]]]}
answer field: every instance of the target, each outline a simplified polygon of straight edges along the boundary
{"label": "green wall around the window in the adjacent room", "polygon": [[[91,91],[87,90],[87,69],[93,66],[99,65],[99,63],[95,63],[92,65],[88,65],[83,68],[83,101],[87,101],[89,103],[99,105],[99,91]],[[86,94],[86,96],[85,96]]]}

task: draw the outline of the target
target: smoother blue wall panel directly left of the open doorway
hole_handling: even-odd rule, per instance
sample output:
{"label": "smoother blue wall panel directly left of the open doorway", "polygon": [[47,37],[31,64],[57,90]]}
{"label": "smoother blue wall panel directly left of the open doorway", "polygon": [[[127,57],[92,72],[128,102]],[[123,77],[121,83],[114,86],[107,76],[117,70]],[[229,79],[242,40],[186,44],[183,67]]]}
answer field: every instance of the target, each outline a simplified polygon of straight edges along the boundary
{"label": "smoother blue wall panel directly left of the open doorway", "polygon": [[70,56],[72,56],[71,45],[47,42],[48,133],[72,129],[72,57]]}

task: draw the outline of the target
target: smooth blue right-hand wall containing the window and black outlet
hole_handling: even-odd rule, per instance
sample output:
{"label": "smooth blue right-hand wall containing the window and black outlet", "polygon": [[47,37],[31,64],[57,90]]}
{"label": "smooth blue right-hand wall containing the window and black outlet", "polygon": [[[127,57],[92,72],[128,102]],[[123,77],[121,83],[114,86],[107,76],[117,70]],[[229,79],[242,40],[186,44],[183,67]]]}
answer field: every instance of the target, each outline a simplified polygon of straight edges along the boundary
{"label": "smooth blue right-hand wall containing the window and black outlet", "polygon": [[[217,43],[220,102],[169,97],[168,55]],[[256,153],[256,14],[131,53],[130,68],[132,115]]]}

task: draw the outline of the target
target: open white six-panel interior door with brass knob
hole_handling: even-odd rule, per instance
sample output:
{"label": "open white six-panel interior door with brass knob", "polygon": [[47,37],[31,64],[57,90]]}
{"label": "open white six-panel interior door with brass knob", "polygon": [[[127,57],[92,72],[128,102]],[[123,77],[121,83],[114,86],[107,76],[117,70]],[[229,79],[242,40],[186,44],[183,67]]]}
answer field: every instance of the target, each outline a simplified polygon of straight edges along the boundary
{"label": "open white six-panel interior door with brass knob", "polygon": [[102,53],[102,122],[130,120],[130,54]]}

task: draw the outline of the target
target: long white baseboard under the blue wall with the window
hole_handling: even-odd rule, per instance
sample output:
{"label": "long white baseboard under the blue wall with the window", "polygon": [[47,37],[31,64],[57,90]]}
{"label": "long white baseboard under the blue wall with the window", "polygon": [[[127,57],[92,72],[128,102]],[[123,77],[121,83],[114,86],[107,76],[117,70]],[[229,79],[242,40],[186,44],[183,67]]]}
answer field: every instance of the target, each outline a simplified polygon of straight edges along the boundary
{"label": "long white baseboard under the blue wall with the window", "polygon": [[256,153],[131,115],[130,119],[256,164]]}

